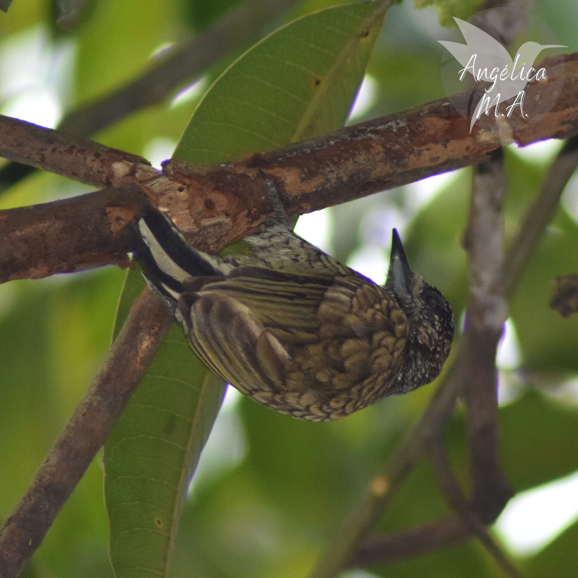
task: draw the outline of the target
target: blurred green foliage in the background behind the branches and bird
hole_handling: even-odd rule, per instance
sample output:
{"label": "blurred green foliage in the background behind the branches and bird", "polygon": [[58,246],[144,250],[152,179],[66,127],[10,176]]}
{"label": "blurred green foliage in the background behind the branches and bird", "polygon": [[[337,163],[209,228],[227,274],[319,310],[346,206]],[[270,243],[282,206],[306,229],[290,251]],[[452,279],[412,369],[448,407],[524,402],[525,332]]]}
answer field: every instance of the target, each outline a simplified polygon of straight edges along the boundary
{"label": "blurred green foliage in the background behind the branches and bird", "polygon": [[[276,25],[334,3],[303,2],[291,13],[279,14]],[[71,108],[138,74],[156,51],[205,28],[234,2],[99,0],[88,4],[90,10],[77,29],[64,34],[55,32],[49,2],[14,1],[7,14],[0,14],[0,70],[8,70],[7,49],[19,35],[44,31],[52,38],[49,48],[54,62],[54,76],[49,71],[45,81],[58,84],[62,107]],[[460,16],[457,10],[464,5],[446,3],[447,14]],[[568,51],[578,49],[578,5],[569,0],[539,2],[538,13],[560,43],[569,46]],[[375,95],[356,121],[443,97],[442,49],[436,41],[450,33],[439,28],[437,18],[432,8],[416,12],[409,3],[390,10],[368,65]],[[62,77],[55,71],[59,50],[66,46],[72,46],[73,68]],[[207,71],[209,81],[238,55],[239,51],[230,54]],[[18,66],[17,61],[11,64]],[[3,88],[9,80],[0,77],[0,106],[17,97]],[[24,83],[20,90],[28,88]],[[161,103],[95,138],[136,154],[150,150],[153,139],[176,144],[197,102],[198,97],[175,106]],[[506,155],[509,187],[504,210],[509,240],[551,159],[551,153],[540,158],[523,153],[508,150]],[[363,224],[370,214],[394,214],[401,219],[412,266],[446,294],[459,320],[466,297],[460,239],[469,187],[470,172],[465,169],[426,203],[418,203],[416,187],[407,186],[332,208],[329,213],[336,225],[329,242],[343,261],[363,250],[365,243],[377,244],[387,254],[382,239],[388,231],[372,238]],[[86,190],[60,177],[37,174],[0,196],[0,207]],[[575,195],[576,182],[566,191],[568,198]],[[578,469],[578,409],[568,386],[578,374],[578,316],[561,318],[548,306],[553,277],[578,272],[577,242],[575,215],[561,208],[510,303],[521,359],[515,372],[502,372],[504,384],[515,377],[519,385],[501,409],[501,455],[517,491]],[[124,277],[124,272],[106,268],[0,286],[0,517],[9,515],[94,376],[110,343]],[[229,404],[217,420],[214,438],[219,432],[227,435],[221,435],[220,446],[209,441],[201,458],[169,576],[306,576],[336,525],[427,405],[435,387],[387,399],[328,424],[292,420],[249,399]],[[460,412],[450,424],[448,443],[458,477],[467,484]],[[407,528],[446,510],[424,460],[377,529]],[[58,516],[28,575],[112,576],[108,531],[99,457]],[[577,525],[570,525],[542,551],[520,561],[524,572],[531,578],[568,576],[568,568],[575,565],[577,540]],[[376,566],[370,572],[384,577],[500,575],[473,540],[414,560]]]}

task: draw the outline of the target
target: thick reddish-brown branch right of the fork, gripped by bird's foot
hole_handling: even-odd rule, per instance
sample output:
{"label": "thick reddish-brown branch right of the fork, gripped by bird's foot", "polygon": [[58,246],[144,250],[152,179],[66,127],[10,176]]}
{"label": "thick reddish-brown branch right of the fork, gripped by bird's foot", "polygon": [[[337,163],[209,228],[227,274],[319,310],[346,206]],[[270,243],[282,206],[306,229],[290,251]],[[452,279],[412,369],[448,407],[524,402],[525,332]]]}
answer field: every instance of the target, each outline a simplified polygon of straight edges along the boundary
{"label": "thick reddish-brown branch right of the fork, gripped by bird's foot", "polygon": [[[507,117],[498,117],[491,129],[473,127],[470,134],[469,119],[441,99],[216,167],[168,161],[165,174],[191,194],[159,190],[157,203],[171,209],[181,228],[195,232],[195,242],[215,250],[246,234],[270,210],[261,183],[253,179],[257,168],[277,181],[287,212],[295,215],[486,162],[505,143],[578,134],[578,53],[566,58],[560,97],[550,112],[525,128],[513,130]],[[542,62],[549,78],[557,77],[561,62],[563,56]],[[547,82],[528,86],[528,114],[537,118],[544,112],[541,103],[549,101],[554,88]],[[192,221],[191,216],[198,217]],[[213,242],[203,235],[205,219]]]}

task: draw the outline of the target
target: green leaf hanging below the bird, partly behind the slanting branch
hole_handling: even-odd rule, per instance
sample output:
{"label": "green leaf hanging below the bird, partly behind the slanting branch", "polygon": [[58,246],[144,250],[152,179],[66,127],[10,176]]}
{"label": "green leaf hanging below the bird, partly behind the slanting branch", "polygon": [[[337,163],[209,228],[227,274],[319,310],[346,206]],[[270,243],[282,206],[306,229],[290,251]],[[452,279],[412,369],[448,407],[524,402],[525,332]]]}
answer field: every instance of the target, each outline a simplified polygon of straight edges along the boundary
{"label": "green leaf hanging below the bird, partly behind the slanting branch", "polygon": [[[139,273],[127,275],[115,334],[144,287]],[[117,577],[165,575],[224,386],[174,324],[105,445],[110,559]]]}

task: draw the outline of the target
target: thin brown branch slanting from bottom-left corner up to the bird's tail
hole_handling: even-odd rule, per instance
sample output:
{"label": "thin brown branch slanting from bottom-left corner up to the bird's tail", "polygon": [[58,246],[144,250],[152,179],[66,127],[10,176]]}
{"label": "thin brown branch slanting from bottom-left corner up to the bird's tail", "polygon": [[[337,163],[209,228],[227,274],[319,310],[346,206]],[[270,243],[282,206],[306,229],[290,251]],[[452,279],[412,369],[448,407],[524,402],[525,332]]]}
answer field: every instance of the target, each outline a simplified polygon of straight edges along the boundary
{"label": "thin brown branch slanting from bottom-left corner up to the bird's tail", "polygon": [[0,576],[16,578],[105,442],[146,372],[172,316],[144,290],[101,369],[0,529]]}

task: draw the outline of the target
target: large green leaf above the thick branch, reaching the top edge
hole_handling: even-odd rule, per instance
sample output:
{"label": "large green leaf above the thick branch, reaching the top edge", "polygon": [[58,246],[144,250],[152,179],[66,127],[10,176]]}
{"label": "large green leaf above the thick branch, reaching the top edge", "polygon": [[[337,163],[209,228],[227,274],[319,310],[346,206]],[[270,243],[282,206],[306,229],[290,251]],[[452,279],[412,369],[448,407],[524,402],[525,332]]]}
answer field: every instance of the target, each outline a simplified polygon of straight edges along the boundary
{"label": "large green leaf above the thick branch, reaching the top edge", "polygon": [[173,156],[224,162],[341,127],[363,80],[383,6],[320,10],[261,40],[199,102]]}

